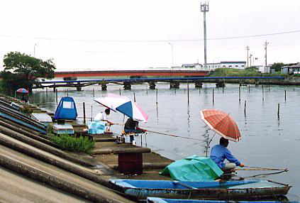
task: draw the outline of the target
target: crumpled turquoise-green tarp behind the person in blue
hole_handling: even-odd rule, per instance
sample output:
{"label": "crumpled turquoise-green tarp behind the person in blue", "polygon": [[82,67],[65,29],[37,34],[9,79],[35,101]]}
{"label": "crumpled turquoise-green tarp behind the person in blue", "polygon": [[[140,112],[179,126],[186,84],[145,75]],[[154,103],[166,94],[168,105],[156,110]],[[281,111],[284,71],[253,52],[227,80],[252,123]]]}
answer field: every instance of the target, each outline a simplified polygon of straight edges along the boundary
{"label": "crumpled turquoise-green tarp behind the person in blue", "polygon": [[223,171],[210,158],[191,155],[177,160],[160,172],[180,181],[212,181],[220,177]]}

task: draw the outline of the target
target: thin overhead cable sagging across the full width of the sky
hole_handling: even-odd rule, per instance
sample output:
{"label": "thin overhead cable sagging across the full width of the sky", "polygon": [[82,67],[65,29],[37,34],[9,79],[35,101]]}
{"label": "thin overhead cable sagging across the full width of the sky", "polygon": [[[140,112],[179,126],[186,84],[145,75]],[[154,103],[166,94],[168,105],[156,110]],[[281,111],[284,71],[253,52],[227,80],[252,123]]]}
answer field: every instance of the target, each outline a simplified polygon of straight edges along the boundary
{"label": "thin overhead cable sagging across the full width of the sky", "polygon": [[[257,35],[240,35],[232,37],[223,37],[223,38],[207,38],[207,40],[231,40],[231,39],[240,39],[240,38],[257,38],[270,35],[284,35],[291,33],[300,33],[300,30],[296,31],[285,31],[280,33],[267,33],[267,34],[257,34]],[[30,38],[23,36],[14,36],[14,35],[0,35],[0,38]],[[75,42],[87,42],[87,43],[175,43],[175,42],[199,42],[204,39],[183,39],[183,40],[102,40],[102,39],[70,39],[70,38],[42,38],[42,37],[33,37],[33,40],[64,40],[64,41],[75,41]]]}

